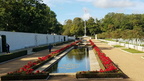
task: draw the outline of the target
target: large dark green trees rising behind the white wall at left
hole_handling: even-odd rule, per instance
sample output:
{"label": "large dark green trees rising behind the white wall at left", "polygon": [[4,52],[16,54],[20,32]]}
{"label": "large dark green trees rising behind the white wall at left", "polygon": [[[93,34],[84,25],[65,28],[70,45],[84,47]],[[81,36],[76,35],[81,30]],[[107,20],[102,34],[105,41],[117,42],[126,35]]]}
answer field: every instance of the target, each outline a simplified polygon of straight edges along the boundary
{"label": "large dark green trees rising behind the white wall at left", "polygon": [[0,30],[61,33],[56,14],[42,0],[1,0]]}

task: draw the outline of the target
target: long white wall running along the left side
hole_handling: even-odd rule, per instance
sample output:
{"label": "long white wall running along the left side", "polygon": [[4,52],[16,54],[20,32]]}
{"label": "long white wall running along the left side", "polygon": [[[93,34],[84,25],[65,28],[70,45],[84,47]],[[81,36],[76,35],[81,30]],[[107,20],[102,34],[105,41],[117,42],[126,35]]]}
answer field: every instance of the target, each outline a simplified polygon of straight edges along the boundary
{"label": "long white wall running along the left side", "polygon": [[[68,36],[51,34],[0,31],[0,35],[6,35],[6,42],[10,45],[10,50],[46,45],[50,43],[57,43],[69,40]],[[75,37],[71,39],[75,39]]]}

